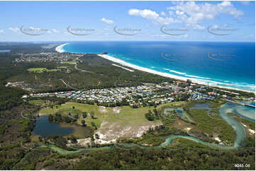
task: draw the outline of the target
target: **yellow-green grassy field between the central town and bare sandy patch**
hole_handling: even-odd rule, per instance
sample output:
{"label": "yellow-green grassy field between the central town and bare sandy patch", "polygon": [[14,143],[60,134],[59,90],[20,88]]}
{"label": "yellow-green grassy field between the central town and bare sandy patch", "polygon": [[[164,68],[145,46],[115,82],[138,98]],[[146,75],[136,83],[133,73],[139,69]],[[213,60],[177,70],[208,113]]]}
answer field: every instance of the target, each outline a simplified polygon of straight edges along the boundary
{"label": "yellow-green grassy field between the central town and bare sandy patch", "polygon": [[[128,106],[118,108],[104,108],[96,105],[67,102],[62,105],[55,105],[53,106],[53,108],[43,108],[42,110],[40,110],[40,114],[55,114],[56,112],[66,116],[68,112],[70,112],[72,116],[74,116],[74,114],[79,114],[79,119],[77,120],[77,123],[81,124],[81,120],[83,119],[82,112],[87,112],[89,114],[91,114],[91,112],[94,112],[94,117],[96,119],[92,119],[90,116],[87,116],[87,118],[84,119],[85,123],[88,126],[91,126],[91,122],[94,122],[96,124],[96,127],[100,128],[102,122],[107,122],[109,125],[118,124],[120,126],[138,126],[160,123],[160,120],[149,122],[148,119],[145,118],[145,113],[148,112],[148,110],[152,109],[153,107],[140,107],[137,109],[133,109]],[[114,111],[119,112],[114,113]]]}

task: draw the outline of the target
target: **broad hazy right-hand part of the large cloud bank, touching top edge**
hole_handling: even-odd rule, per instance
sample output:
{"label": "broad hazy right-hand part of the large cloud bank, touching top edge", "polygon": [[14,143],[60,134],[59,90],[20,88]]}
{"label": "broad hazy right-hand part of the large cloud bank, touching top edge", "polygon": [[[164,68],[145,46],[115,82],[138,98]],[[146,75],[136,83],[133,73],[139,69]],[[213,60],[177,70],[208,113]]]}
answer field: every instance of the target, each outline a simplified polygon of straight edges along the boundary
{"label": "broad hazy right-hand part of the large cloud bank, touching top edge", "polygon": [[172,11],[170,13],[175,11],[177,18],[184,23],[200,23],[204,20],[212,20],[220,14],[226,14],[234,18],[243,16],[243,11],[236,9],[230,1],[222,1],[219,4],[196,4],[194,1],[182,1],[167,9]]}

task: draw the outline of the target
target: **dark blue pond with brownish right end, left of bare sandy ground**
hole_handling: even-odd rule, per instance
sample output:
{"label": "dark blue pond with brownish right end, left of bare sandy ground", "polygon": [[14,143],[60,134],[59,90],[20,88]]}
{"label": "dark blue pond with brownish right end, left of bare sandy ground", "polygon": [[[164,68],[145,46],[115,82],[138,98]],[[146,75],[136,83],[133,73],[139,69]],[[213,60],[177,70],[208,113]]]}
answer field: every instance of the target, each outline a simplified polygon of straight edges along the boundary
{"label": "dark blue pond with brownish right end, left of bare sandy ground", "polygon": [[63,124],[49,122],[48,116],[40,117],[35,123],[33,130],[35,136],[77,136],[79,138],[87,138],[91,135],[89,126],[79,126],[76,124]]}

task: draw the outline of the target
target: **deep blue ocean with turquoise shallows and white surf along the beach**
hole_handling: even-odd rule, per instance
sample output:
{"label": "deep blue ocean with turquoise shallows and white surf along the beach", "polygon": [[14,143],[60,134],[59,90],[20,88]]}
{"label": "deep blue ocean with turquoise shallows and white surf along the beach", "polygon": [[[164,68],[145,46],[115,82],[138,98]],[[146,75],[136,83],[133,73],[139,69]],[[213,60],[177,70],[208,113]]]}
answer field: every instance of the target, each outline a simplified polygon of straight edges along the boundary
{"label": "deep blue ocean with turquoise shallows and white surf along the beach", "polygon": [[65,52],[108,52],[130,64],[197,81],[255,91],[255,42],[70,42]]}

